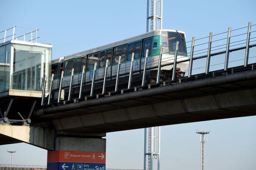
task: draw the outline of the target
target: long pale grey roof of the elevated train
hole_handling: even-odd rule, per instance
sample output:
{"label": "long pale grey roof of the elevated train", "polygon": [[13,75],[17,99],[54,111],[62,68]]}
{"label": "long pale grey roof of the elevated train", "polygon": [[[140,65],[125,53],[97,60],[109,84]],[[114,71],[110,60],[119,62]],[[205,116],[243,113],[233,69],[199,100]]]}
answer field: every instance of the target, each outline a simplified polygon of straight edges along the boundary
{"label": "long pale grey roof of the elevated train", "polygon": [[[145,38],[148,38],[148,37],[152,37],[154,34],[160,34],[161,31],[176,32],[176,30],[171,30],[171,29],[159,29],[159,30],[147,32],[145,34],[137,35],[135,37],[120,40],[120,41],[117,41],[117,42],[112,42],[112,43],[107,44],[107,45],[102,45],[102,46],[99,46],[99,47],[96,47],[96,48],[92,48],[92,49],[89,49],[89,50],[86,50],[86,51],[81,51],[81,52],[78,52],[78,53],[75,53],[75,54],[67,55],[67,56],[64,56],[64,57],[61,57],[61,58],[65,61],[65,60],[73,59],[73,58],[76,58],[76,57],[81,57],[81,56],[84,56],[84,55],[87,55],[87,54],[96,53],[98,51],[102,51],[102,50],[105,50],[105,49],[108,49],[108,48],[113,48],[113,47],[116,47],[116,46],[119,46],[119,45],[123,45],[123,44],[127,44],[127,43],[134,42],[134,41],[137,41],[137,40],[142,40],[142,39],[145,39]],[[183,32],[183,31],[178,31],[178,32],[182,33],[182,34],[185,34],[185,32]],[[61,59],[54,59],[54,60],[52,60],[52,64],[61,62],[60,60]]]}

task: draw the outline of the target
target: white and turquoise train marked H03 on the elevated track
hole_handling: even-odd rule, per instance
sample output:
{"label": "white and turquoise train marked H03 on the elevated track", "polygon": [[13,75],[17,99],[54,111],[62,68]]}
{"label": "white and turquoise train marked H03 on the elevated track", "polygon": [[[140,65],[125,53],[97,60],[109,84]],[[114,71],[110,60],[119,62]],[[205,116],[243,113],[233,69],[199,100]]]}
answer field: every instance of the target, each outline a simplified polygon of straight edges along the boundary
{"label": "white and turquoise train marked H03 on the elevated track", "polygon": [[[119,89],[127,88],[132,56],[133,66],[131,87],[140,86],[147,49],[146,84],[156,82],[157,66],[161,48],[161,81],[168,80],[172,77],[172,63],[174,62],[177,41],[179,42],[179,45],[177,51],[178,64],[176,77],[183,77],[188,67],[188,62],[182,62],[183,60],[188,59],[185,33],[177,30],[160,29],[52,60],[51,72],[54,77],[52,81],[52,93],[49,97],[52,100],[58,99],[61,73],[63,73],[61,99],[67,100],[70,91],[72,69],[74,70],[72,82],[73,88],[71,92],[73,99],[78,97],[81,81],[83,84],[83,96],[91,94],[90,87],[92,84],[94,67],[96,69],[94,71],[95,87],[93,89],[93,94],[102,93],[106,66],[108,69],[106,73],[107,80],[105,92],[108,93],[114,91],[116,74],[118,73],[119,57]],[[83,68],[85,68],[85,74],[82,80]]]}

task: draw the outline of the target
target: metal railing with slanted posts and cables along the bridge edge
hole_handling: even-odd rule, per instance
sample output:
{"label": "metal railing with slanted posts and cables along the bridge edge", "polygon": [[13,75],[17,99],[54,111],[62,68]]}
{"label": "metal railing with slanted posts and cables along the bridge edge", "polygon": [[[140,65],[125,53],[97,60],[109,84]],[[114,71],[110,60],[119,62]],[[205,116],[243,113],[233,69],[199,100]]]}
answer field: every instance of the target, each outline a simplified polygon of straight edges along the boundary
{"label": "metal railing with slanted posts and cables along the bridge edge", "polygon": [[[45,86],[46,89],[50,89],[50,94],[52,94],[52,90],[58,89],[58,103],[61,103],[61,91],[63,88],[68,89],[68,101],[71,101],[71,91],[74,86],[76,88],[80,88],[79,90],[79,99],[81,99],[82,88],[84,86],[90,86],[90,94],[88,96],[96,98],[100,94],[107,94],[105,88],[108,87],[108,82],[116,81],[115,83],[115,92],[122,90],[119,88],[120,79],[127,77],[128,86],[127,88],[123,88],[124,90],[129,90],[136,88],[133,85],[134,82],[141,81],[141,86],[150,85],[150,84],[161,84],[164,82],[177,83],[176,68],[179,64],[187,64],[188,69],[182,70],[182,72],[186,73],[184,77],[179,77],[179,82],[182,82],[182,79],[187,79],[191,77],[195,77],[198,74],[209,75],[212,71],[223,71],[228,72],[230,68],[233,67],[244,67],[247,68],[248,64],[256,63],[256,25],[248,24],[246,27],[238,28],[231,30],[228,28],[228,31],[213,34],[212,32],[207,37],[196,39],[192,38],[189,42],[183,42],[186,45],[185,49],[178,48],[179,44],[182,42],[177,42],[175,45],[171,46],[171,48],[167,47],[167,49],[175,49],[175,51],[165,51],[163,52],[163,48],[154,49],[154,51],[160,51],[160,55],[158,58],[151,60],[151,62],[147,62],[147,55],[143,57],[138,65],[134,66],[133,62],[135,59],[129,61],[131,64],[125,65],[125,67],[120,67],[122,65],[121,57],[119,57],[119,61],[117,63],[117,68],[114,68],[112,65],[111,74],[106,75],[108,72],[108,61],[105,63],[105,68],[96,69],[97,63],[95,63],[94,68],[90,73],[85,71],[85,67],[82,70],[77,68],[73,68],[70,74],[70,79],[65,79],[64,71],[62,71],[61,75],[52,75],[52,77],[47,77],[50,79],[50,83]],[[189,46],[189,44],[191,45]],[[188,53],[181,54],[180,51],[188,51]],[[165,54],[172,54],[166,58]],[[134,55],[133,55],[134,56]],[[163,57],[164,56],[164,57]],[[170,71],[169,75],[164,75],[166,80],[161,80],[163,75],[161,75],[162,68],[171,65],[172,71]],[[144,69],[145,67],[145,69]],[[110,70],[110,69],[109,69]],[[157,70],[156,77],[148,77],[149,79],[155,79],[155,82],[146,82],[145,83],[145,74],[147,71]],[[78,73],[79,76],[75,76],[74,73]],[[134,76],[138,74],[143,74],[142,79],[134,79]],[[55,87],[53,88],[54,79],[59,78],[58,82],[55,81]],[[169,79],[169,80],[168,80]],[[65,82],[64,82],[65,80]],[[102,83],[102,93],[94,94],[94,86],[101,82]],[[65,85],[64,85],[65,83]],[[79,87],[80,85],[80,87]],[[108,93],[109,94],[109,93]],[[51,96],[51,95],[49,95]],[[108,95],[105,95],[108,96]],[[42,105],[44,105],[44,96],[42,97]],[[48,105],[51,104],[51,97],[48,99]]]}

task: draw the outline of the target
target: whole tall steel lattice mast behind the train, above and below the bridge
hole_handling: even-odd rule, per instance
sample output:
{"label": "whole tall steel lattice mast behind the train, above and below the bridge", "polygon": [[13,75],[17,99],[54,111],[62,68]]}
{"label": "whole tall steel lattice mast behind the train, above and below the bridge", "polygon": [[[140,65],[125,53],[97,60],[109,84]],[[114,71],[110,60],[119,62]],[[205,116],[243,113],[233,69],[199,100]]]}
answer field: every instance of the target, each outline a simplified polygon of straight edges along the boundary
{"label": "whole tall steel lattice mast behind the train, above and below the bridge", "polygon": [[[149,3],[151,6],[149,8]],[[150,15],[149,15],[150,14]],[[147,32],[162,29],[163,0],[147,0]],[[149,27],[150,20],[150,27]],[[160,170],[160,127],[149,127],[144,130],[144,170],[153,170],[153,160],[157,159],[157,170]],[[147,135],[148,133],[148,135]],[[148,137],[148,138],[147,138]],[[148,139],[148,140],[147,140]],[[148,150],[147,150],[148,144]],[[147,163],[148,157],[148,163]],[[147,168],[148,166],[148,168]]]}

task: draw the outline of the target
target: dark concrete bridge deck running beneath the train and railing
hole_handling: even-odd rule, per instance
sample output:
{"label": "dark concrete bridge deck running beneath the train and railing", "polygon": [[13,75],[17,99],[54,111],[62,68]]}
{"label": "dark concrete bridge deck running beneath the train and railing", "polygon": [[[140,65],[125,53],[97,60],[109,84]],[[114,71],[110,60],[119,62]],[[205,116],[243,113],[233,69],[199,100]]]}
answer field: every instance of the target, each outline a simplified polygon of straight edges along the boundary
{"label": "dark concrete bridge deck running beneath the train and railing", "polygon": [[35,111],[35,126],[106,133],[256,115],[256,71],[244,70]]}

